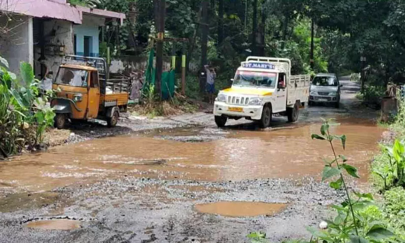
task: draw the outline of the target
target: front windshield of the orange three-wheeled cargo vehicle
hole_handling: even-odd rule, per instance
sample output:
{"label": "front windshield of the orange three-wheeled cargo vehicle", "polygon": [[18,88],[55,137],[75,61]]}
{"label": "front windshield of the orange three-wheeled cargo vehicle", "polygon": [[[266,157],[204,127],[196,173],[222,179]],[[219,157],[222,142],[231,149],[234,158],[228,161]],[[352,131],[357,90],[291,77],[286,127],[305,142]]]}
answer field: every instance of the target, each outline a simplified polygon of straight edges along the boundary
{"label": "front windshield of the orange three-wheeled cargo vehicle", "polygon": [[86,70],[61,67],[55,79],[55,84],[87,87]]}

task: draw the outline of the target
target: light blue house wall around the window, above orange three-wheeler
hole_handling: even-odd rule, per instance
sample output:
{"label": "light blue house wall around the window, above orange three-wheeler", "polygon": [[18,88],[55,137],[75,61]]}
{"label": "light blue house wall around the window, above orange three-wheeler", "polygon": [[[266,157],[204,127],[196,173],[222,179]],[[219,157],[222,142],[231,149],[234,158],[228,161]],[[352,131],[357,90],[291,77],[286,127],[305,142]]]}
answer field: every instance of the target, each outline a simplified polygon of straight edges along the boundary
{"label": "light blue house wall around the window, above orange three-wheeler", "polygon": [[90,56],[98,57],[99,53],[98,28],[103,25],[104,25],[103,18],[84,15],[82,24],[73,26],[73,33],[76,35],[76,55],[84,56],[84,37],[90,36],[92,38]]}

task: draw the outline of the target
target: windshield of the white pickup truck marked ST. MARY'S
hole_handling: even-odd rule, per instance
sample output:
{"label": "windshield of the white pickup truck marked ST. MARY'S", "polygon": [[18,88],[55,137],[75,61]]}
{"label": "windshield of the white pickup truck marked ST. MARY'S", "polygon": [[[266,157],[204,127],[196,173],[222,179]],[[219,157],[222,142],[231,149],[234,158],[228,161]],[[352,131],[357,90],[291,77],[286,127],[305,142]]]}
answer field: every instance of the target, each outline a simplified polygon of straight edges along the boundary
{"label": "windshield of the white pickup truck marked ST. MARY'S", "polygon": [[277,73],[237,71],[233,85],[274,88],[276,77]]}

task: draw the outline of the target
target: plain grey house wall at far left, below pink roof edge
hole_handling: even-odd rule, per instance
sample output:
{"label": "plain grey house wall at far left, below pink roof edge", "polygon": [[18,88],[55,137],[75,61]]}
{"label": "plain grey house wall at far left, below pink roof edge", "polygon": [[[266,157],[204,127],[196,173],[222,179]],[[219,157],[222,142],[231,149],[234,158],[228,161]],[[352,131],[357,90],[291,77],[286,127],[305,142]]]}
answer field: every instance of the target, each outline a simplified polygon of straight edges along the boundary
{"label": "plain grey house wall at far left, below pink roof edge", "polygon": [[0,27],[8,30],[0,35],[0,55],[8,61],[9,70],[18,74],[21,61],[32,65],[32,18],[24,15],[1,15]]}

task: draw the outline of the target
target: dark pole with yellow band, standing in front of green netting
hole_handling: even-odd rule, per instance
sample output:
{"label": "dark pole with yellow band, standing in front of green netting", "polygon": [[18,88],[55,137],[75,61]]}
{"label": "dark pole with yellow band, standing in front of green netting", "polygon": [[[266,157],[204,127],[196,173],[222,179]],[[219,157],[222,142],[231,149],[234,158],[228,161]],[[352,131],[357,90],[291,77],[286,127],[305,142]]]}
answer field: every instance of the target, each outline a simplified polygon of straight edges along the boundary
{"label": "dark pole with yellow band, standing in front of green netting", "polygon": [[[163,40],[164,40],[164,21],[166,13],[166,0],[156,0],[158,6],[158,23],[157,23],[157,40],[156,40],[156,83],[155,89],[159,95],[159,99],[162,98],[161,95],[161,83],[162,83],[162,72],[163,72]],[[155,12],[156,14],[156,12]],[[156,19],[156,18],[155,18]]]}

